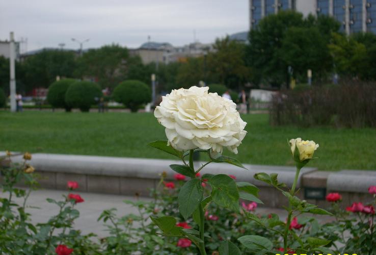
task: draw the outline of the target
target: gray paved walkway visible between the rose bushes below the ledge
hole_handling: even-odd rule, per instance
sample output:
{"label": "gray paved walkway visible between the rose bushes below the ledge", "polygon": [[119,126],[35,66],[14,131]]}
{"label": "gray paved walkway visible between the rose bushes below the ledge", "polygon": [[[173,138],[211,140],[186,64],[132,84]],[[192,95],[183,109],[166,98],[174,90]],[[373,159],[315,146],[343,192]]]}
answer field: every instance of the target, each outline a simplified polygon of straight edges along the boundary
{"label": "gray paved walkway visible between the rose bushes below the ledge", "polygon": [[[76,192],[79,193],[85,202],[78,203],[76,209],[80,212],[78,220],[75,222],[75,228],[82,230],[84,234],[95,233],[99,237],[104,237],[107,235],[105,231],[106,227],[103,222],[98,222],[97,219],[99,215],[105,209],[116,208],[117,215],[122,216],[125,214],[136,214],[138,215],[138,210],[133,208],[131,205],[127,205],[123,202],[124,199],[136,200],[135,197],[124,196],[124,195],[113,195],[113,194],[98,194],[98,193],[88,193],[88,192]],[[62,194],[68,194],[67,191],[63,190],[37,190],[33,191],[28,199],[26,205],[38,208],[26,208],[26,212],[31,213],[31,218],[34,223],[46,222],[51,216],[57,215],[59,212],[59,207],[53,203],[46,201],[46,198],[52,198],[55,200],[62,200]],[[0,196],[7,197],[7,193],[0,193]],[[140,198],[142,200],[149,200],[148,198]],[[15,198],[19,204],[23,202],[23,199]],[[262,208],[256,209],[257,213],[269,214],[276,213],[281,219],[287,217],[287,214],[283,209],[276,208]],[[321,220],[330,220],[328,217],[320,217]]]}

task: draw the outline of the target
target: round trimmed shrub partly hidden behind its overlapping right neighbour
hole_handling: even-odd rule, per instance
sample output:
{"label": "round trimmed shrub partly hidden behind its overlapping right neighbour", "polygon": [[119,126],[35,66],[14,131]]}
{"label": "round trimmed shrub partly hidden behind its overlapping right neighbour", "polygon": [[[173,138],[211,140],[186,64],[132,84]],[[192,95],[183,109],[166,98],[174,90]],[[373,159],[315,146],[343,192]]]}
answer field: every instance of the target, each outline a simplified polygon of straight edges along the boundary
{"label": "round trimmed shrub partly hidden behind its overlapping right neighbour", "polygon": [[64,108],[65,111],[70,112],[71,107],[65,103],[65,94],[69,86],[76,82],[74,79],[63,79],[56,81],[49,85],[47,101],[53,108]]}

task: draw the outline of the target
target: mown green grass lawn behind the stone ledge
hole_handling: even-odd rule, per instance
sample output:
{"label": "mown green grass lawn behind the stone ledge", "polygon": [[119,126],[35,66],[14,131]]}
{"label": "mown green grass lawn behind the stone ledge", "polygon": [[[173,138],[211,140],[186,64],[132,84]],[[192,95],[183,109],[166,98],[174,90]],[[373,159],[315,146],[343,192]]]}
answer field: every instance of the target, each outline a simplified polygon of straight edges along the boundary
{"label": "mown green grass lawn behind the stone ledge", "polygon": [[[234,156],[243,163],[292,165],[287,139],[319,143],[309,166],[320,170],[376,169],[375,129],[333,129],[268,124],[267,114],[244,115],[248,134]],[[148,142],[166,139],[150,113],[0,111],[0,150],[137,158],[170,158]]]}

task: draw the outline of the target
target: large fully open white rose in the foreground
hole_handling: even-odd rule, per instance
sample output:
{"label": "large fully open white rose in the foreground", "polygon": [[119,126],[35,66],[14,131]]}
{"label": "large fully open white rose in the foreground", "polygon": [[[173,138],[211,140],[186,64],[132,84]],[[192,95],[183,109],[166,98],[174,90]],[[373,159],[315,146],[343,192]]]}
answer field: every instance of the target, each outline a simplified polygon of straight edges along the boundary
{"label": "large fully open white rose in the foreground", "polygon": [[246,122],[236,105],[208,87],[178,89],[162,97],[154,116],[166,127],[169,144],[177,150],[210,149],[222,153],[223,147],[237,154],[237,146],[247,134]]}

